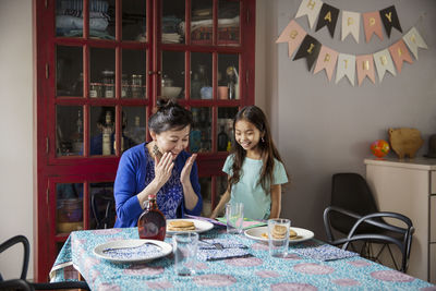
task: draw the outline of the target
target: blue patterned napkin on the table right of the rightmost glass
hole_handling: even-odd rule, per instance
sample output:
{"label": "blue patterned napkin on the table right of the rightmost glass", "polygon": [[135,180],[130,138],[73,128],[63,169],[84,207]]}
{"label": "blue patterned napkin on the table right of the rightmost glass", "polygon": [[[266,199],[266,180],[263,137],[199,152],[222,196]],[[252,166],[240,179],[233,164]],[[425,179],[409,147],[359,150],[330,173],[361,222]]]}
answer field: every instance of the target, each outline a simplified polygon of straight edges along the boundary
{"label": "blue patterned napkin on the table right of the rightmost glass", "polygon": [[295,247],[295,248],[290,248],[290,252],[295,253],[300,256],[310,257],[317,260],[335,260],[335,259],[359,256],[358,253],[344,251],[329,244],[323,244],[310,247]]}

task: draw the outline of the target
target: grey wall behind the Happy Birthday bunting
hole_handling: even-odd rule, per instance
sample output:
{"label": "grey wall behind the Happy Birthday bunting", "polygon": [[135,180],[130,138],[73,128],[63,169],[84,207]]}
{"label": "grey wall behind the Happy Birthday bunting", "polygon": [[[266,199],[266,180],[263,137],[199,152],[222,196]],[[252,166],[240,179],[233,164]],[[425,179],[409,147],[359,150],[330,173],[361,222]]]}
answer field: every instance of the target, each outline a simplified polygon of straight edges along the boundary
{"label": "grey wall behind the Happy Birthday bunting", "polygon": [[[270,2],[270,1],[268,1]],[[371,157],[370,144],[378,138],[387,140],[388,128],[410,126],[419,129],[427,140],[436,133],[436,1],[325,1],[336,8],[355,12],[372,12],[396,5],[403,32],[415,26],[429,49],[419,51],[419,60],[404,63],[401,73],[385,75],[376,84],[366,78],[362,86],[351,86],[347,80],[338,84],[328,82],[325,72],[313,75],[305,60],[288,58],[287,44],[274,44],[289,21],[294,19],[300,0],[271,1],[267,16],[277,25],[269,24],[266,35],[269,49],[265,59],[275,60],[266,65],[266,87],[275,87],[270,98],[275,106],[268,114],[272,120],[275,137],[292,178],[282,202],[282,216],[298,227],[313,229],[324,238],[323,210],[330,198],[330,179],[335,172],[359,172],[364,175],[363,159]],[[422,19],[420,16],[423,16]],[[307,19],[298,23],[322,44],[343,53],[366,54],[377,52],[396,43],[402,34],[392,31],[390,38],[384,32],[384,40],[373,36],[364,41],[361,27],[360,43],[349,36],[340,40],[340,20],[335,38],[327,28],[315,33]],[[268,56],[270,54],[270,56]],[[336,73],[336,71],[335,71]],[[335,78],[335,76],[334,76]],[[272,84],[272,85],[271,85]],[[427,151],[427,143],[419,151]],[[389,156],[395,156],[392,153]]]}

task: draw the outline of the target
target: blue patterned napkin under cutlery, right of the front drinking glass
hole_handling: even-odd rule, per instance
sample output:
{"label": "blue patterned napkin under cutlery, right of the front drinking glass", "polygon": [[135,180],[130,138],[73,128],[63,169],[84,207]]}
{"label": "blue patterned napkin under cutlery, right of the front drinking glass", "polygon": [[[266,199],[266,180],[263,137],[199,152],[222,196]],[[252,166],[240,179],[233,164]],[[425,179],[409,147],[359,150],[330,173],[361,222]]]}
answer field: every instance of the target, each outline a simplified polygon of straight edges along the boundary
{"label": "blue patterned napkin under cutlery, right of the front drinking glass", "polygon": [[[217,247],[214,244],[219,244]],[[227,239],[207,239],[198,241],[197,257],[201,260],[218,260],[252,256],[247,246]]]}

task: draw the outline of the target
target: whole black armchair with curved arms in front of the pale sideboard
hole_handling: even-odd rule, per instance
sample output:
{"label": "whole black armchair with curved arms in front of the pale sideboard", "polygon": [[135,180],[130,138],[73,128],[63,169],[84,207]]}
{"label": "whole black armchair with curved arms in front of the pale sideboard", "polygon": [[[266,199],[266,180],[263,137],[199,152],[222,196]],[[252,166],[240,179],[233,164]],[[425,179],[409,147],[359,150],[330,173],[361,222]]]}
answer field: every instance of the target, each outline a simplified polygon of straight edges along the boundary
{"label": "whole black armchair with curved arms in front of the pale sideboard", "polygon": [[[404,227],[396,227],[386,222],[384,218],[391,218]],[[375,203],[373,193],[365,179],[358,173],[336,173],[332,175],[331,205],[324,211],[324,225],[327,239],[330,244],[351,247],[361,256],[380,262],[380,255],[385,250],[389,252],[393,266],[405,271],[410,257],[410,246],[414,228],[412,221],[395,213],[380,213]],[[332,229],[344,235],[335,239]],[[361,242],[361,248],[356,251],[356,244]],[[375,252],[373,244],[382,244]],[[391,244],[401,252],[401,264],[397,264]]]}

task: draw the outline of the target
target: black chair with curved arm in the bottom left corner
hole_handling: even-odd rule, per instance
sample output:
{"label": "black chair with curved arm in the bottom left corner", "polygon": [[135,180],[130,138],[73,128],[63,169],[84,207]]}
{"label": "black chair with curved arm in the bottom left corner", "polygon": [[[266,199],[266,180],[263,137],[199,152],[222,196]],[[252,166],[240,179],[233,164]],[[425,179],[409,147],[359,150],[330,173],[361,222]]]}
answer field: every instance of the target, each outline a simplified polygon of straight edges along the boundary
{"label": "black chair with curved arm in the bottom left corner", "polygon": [[0,254],[9,247],[22,243],[24,247],[23,266],[19,279],[3,280],[0,275],[0,290],[58,290],[58,289],[83,289],[90,290],[85,281],[65,281],[65,282],[47,282],[34,283],[26,280],[31,246],[28,240],[24,235],[15,235],[0,244]]}

